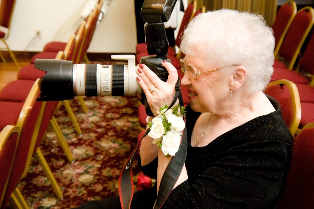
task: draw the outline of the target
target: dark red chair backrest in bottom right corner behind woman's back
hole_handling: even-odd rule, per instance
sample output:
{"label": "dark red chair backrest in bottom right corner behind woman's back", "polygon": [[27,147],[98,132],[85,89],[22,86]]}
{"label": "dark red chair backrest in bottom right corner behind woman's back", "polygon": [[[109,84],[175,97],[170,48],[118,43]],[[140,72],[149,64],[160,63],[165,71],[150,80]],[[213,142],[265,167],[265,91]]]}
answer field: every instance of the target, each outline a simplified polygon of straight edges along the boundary
{"label": "dark red chair backrest in bottom right corner behind woman's back", "polygon": [[314,123],[295,139],[286,189],[278,208],[310,209],[314,206]]}

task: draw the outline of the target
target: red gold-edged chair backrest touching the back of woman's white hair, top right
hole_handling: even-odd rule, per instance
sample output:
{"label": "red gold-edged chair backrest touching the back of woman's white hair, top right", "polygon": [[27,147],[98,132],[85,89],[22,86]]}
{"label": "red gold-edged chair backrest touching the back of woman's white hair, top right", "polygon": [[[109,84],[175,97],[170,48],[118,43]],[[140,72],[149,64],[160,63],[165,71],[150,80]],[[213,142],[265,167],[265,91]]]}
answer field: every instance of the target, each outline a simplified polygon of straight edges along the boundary
{"label": "red gold-edged chair backrest touching the back of woman's white hair, top right", "polygon": [[275,57],[277,56],[284,37],[292,23],[293,18],[295,17],[296,10],[295,1],[290,0],[281,5],[277,12],[276,19],[272,26],[275,37]]}

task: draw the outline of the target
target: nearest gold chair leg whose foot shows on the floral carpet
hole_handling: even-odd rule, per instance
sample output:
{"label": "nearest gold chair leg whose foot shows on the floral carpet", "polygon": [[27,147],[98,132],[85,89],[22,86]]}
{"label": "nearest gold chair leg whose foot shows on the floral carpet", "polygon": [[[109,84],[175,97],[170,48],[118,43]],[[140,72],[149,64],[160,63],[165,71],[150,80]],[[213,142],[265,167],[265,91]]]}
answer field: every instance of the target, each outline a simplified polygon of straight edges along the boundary
{"label": "nearest gold chair leg whose foot shows on the floral carpet", "polygon": [[55,177],[53,176],[46,159],[44,158],[44,155],[41,153],[41,150],[39,148],[37,148],[37,151],[35,153],[36,159],[39,161],[42,169],[44,170],[48,180],[50,181],[50,184],[53,188],[53,190],[55,191],[57,197],[62,200],[63,196],[62,196],[62,192],[61,189],[59,187],[59,185],[57,184],[57,181],[55,179]]}

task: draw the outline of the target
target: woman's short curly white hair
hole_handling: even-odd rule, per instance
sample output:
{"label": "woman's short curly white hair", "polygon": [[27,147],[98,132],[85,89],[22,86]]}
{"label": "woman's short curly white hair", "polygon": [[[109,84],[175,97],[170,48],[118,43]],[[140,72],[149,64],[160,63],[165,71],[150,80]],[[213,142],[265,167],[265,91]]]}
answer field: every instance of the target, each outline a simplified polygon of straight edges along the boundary
{"label": "woman's short curly white hair", "polygon": [[[270,81],[274,45],[273,30],[261,15],[221,9],[193,18],[180,48],[185,55],[202,56],[212,68],[245,66],[246,90],[254,93],[263,91]],[[228,68],[225,72],[230,73]]]}

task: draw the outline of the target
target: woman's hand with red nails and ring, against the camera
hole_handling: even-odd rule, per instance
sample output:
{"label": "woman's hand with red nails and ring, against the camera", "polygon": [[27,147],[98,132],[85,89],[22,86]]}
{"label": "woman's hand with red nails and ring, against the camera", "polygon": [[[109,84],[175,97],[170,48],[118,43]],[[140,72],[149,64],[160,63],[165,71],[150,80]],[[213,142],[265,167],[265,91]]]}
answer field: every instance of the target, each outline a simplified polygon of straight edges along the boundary
{"label": "woman's hand with red nails and ring, against the camera", "polygon": [[175,95],[175,85],[178,80],[178,72],[171,63],[163,61],[162,65],[169,73],[166,82],[161,81],[158,76],[146,65],[138,64],[138,75],[136,77],[138,84],[142,87],[154,116],[160,107],[170,105]]}

